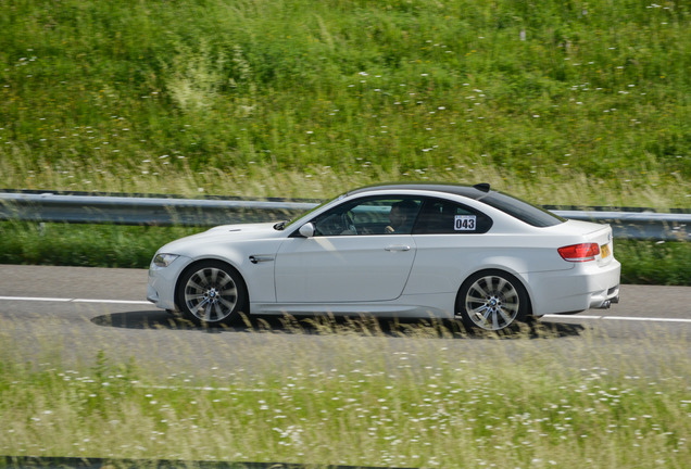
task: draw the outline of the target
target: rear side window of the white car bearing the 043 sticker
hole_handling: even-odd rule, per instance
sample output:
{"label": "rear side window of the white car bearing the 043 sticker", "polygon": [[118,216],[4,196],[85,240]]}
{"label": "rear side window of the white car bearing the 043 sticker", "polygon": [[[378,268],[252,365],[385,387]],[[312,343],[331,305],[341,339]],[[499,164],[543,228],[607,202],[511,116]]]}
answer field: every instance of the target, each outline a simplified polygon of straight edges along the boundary
{"label": "rear side window of the white car bearing the 043 sticker", "polygon": [[478,234],[489,231],[492,219],[465,205],[429,199],[425,202],[414,234]]}

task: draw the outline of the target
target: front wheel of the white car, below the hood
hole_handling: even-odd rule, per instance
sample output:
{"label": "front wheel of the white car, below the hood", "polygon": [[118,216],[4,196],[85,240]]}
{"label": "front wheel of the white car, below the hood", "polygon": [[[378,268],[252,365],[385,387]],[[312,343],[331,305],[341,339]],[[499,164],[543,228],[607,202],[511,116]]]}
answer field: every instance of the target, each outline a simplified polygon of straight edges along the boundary
{"label": "front wheel of the white car, below the hood", "polygon": [[177,306],[196,325],[230,324],[247,310],[247,288],[240,275],[218,261],[188,267],[177,283]]}

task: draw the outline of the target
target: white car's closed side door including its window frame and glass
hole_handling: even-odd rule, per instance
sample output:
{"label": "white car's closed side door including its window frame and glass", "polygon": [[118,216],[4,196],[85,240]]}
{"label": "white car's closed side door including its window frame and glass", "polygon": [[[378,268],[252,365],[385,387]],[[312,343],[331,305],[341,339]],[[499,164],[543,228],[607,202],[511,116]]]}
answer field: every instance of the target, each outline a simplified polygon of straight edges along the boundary
{"label": "white car's closed side door including its window frame and glass", "polygon": [[[412,223],[393,233],[386,230],[397,202],[401,198],[368,198],[338,206],[313,220],[315,236],[287,238],[276,256],[278,303],[378,302],[399,297],[416,248],[410,234]],[[420,204],[415,201],[411,219]]]}

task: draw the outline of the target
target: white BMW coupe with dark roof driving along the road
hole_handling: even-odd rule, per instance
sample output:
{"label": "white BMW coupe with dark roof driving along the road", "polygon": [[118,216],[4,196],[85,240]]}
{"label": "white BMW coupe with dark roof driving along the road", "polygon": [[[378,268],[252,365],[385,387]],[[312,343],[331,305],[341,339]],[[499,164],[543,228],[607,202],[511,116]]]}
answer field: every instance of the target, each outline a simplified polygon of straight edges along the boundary
{"label": "white BMW coupe with dark roof driving along the road", "polygon": [[292,221],[173,241],[153,257],[147,297],[196,324],[366,314],[502,330],[610,307],[620,268],[608,225],[561,218],[487,183],[381,185]]}

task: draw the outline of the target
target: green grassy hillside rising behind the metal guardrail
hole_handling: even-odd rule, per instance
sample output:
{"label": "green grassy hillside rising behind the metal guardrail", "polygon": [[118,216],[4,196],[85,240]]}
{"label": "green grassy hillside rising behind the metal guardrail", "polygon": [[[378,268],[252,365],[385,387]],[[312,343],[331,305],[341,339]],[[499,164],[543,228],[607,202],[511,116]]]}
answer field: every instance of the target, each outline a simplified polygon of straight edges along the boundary
{"label": "green grassy hillside rising behind the metal guardrail", "polygon": [[691,205],[691,5],[9,0],[0,187]]}

